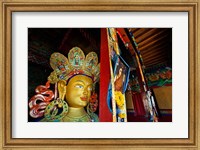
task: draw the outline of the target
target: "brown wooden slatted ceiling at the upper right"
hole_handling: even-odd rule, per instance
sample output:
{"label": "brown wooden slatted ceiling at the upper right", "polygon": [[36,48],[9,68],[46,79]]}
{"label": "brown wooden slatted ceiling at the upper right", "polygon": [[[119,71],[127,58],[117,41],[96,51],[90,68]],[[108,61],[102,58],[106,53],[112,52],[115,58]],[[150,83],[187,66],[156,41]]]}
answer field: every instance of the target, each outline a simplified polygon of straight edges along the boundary
{"label": "brown wooden slatted ceiling at the upper right", "polygon": [[172,64],[171,28],[131,28],[146,68]]}

